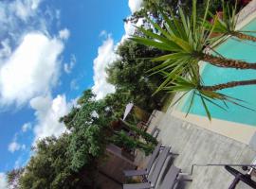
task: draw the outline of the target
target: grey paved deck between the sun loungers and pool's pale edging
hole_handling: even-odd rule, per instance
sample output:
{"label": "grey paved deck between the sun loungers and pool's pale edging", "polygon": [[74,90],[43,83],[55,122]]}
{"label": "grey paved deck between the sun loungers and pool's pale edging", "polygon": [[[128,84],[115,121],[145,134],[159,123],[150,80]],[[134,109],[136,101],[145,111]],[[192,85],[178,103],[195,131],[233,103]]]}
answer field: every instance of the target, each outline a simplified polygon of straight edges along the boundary
{"label": "grey paved deck between the sun loungers and pool's pale edging", "polygon": [[[148,131],[155,127],[160,129],[158,140],[165,146],[172,146],[172,150],[179,154],[174,158],[174,165],[183,172],[190,173],[193,163],[251,163],[256,157],[256,151],[250,146],[174,117],[172,112],[171,108],[166,113],[157,112]],[[192,182],[183,182],[179,186],[185,189],[226,189],[233,179],[224,167],[195,167]],[[160,189],[160,186],[159,181],[156,188]],[[239,183],[237,188],[250,187]]]}

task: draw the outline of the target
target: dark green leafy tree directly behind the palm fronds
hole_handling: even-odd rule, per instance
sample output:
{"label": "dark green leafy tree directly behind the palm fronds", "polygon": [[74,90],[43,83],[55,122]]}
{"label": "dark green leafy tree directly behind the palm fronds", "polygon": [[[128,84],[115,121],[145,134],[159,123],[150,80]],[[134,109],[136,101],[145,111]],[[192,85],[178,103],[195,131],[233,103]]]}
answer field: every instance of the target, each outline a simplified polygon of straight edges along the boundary
{"label": "dark green leafy tree directly behind the palm fronds", "polygon": [[154,58],[164,52],[125,41],[119,45],[117,54],[119,60],[111,63],[106,69],[107,81],[115,85],[117,93],[127,96],[126,99],[133,101],[138,107],[148,112],[159,109],[164,95],[152,94],[162,78],[158,75],[149,76],[147,71],[152,69],[155,63],[145,58]]}

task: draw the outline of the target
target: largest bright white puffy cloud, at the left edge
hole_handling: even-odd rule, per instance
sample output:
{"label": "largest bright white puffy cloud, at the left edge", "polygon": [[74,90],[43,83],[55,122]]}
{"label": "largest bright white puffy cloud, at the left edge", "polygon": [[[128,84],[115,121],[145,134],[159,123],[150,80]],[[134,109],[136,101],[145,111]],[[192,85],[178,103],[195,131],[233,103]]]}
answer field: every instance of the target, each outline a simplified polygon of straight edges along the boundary
{"label": "largest bright white puffy cloud, at the left edge", "polygon": [[2,105],[21,105],[37,94],[46,94],[56,84],[63,49],[59,39],[28,33],[0,69]]}

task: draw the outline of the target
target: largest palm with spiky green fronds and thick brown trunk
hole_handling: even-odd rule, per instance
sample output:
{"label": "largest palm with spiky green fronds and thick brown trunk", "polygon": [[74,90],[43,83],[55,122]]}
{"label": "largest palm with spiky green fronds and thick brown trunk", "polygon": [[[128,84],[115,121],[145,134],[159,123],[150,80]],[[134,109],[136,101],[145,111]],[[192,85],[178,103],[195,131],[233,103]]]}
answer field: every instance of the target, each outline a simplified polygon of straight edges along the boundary
{"label": "largest palm with spiky green fronds and thick brown trunk", "polygon": [[[216,31],[216,25],[208,25],[208,27],[206,27],[208,23],[208,21],[206,21],[208,8],[206,9],[203,21],[198,22],[200,18],[196,16],[195,1],[193,2],[194,10],[192,11],[192,18],[186,16],[182,9],[179,9],[180,19],[177,19],[174,14],[170,19],[164,12],[161,12],[164,18],[163,25],[165,28],[162,28],[149,20],[155,27],[155,31],[158,33],[138,27],[138,29],[147,36],[147,38],[133,36],[131,39],[137,43],[143,43],[162,50],[171,51],[171,54],[159,57],[155,59],[155,61],[172,60],[176,62],[177,60],[183,59],[184,63],[189,63],[189,61],[198,63],[200,60],[203,60],[218,67],[256,69],[256,63],[249,63],[244,60],[225,59],[218,54],[212,55],[210,53],[206,53],[208,48],[209,50],[212,49],[212,43],[217,45],[222,41],[220,41],[219,38],[211,38],[212,32]],[[241,36],[242,33],[236,32],[236,35]],[[167,64],[168,62],[165,63]]]}

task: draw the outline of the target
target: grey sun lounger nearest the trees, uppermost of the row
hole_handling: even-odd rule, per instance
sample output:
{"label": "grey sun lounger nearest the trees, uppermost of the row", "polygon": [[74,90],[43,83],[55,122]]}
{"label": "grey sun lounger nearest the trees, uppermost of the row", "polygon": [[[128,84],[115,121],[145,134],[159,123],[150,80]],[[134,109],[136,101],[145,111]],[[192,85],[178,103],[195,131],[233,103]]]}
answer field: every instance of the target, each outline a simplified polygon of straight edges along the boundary
{"label": "grey sun lounger nearest the trees, uppermost of the row", "polygon": [[148,175],[153,163],[155,162],[155,159],[157,158],[160,149],[161,149],[162,143],[159,142],[157,146],[155,146],[155,149],[150,157],[149,162],[147,163],[147,166],[145,169],[138,169],[138,170],[124,170],[124,176],[125,177],[133,177],[133,176],[145,176]]}

